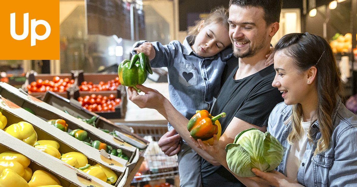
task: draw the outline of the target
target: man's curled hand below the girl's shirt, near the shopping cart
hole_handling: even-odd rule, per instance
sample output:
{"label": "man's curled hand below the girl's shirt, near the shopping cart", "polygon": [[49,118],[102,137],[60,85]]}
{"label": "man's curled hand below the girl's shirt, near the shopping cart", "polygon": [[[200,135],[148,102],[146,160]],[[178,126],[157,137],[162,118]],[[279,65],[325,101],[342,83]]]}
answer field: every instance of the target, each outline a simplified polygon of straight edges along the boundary
{"label": "man's curled hand below the girl's shirt, near the shopping cart", "polygon": [[176,134],[176,131],[174,129],[162,135],[158,144],[162,152],[164,152],[167,156],[173,156],[180,152],[180,141],[180,134]]}

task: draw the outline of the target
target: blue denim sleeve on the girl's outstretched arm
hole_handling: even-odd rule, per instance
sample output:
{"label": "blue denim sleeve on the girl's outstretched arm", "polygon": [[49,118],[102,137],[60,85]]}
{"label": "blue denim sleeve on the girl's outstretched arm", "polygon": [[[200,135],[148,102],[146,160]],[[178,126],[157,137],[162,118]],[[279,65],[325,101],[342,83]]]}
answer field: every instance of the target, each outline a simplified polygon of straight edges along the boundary
{"label": "blue denim sleeve on the girl's outstretched arm", "polygon": [[[153,68],[170,67],[174,64],[178,45],[175,42],[162,45],[160,42],[151,42],[155,49],[155,58],[150,61],[150,65]],[[181,53],[182,54],[182,53]]]}

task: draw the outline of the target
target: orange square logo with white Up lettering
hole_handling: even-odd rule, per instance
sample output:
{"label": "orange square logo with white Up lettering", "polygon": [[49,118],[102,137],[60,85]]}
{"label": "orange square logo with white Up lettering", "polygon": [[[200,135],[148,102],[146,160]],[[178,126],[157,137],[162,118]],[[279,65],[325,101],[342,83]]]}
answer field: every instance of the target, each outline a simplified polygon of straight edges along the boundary
{"label": "orange square logo with white Up lettering", "polygon": [[59,0],[0,3],[0,60],[59,60]]}

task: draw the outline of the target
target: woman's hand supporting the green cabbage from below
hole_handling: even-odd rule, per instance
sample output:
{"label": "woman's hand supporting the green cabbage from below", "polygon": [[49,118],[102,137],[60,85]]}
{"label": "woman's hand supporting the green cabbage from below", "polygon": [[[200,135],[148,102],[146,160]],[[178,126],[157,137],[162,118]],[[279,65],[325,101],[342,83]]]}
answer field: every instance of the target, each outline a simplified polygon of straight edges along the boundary
{"label": "woman's hand supporting the green cabbage from below", "polygon": [[[278,171],[270,171],[270,172],[262,172],[257,168],[252,168],[252,172],[258,176],[260,179],[265,181],[265,184],[269,184],[270,186],[302,186],[296,181],[291,180],[290,178],[285,177],[282,173]],[[255,181],[260,181],[260,179],[255,179]]]}

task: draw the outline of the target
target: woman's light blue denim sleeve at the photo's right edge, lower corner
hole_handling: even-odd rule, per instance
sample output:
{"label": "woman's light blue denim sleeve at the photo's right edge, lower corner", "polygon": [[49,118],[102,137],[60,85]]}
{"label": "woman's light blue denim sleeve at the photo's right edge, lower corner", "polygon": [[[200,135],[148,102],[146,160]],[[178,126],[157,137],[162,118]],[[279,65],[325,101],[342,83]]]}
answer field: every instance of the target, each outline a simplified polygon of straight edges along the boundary
{"label": "woman's light blue denim sleeve at the photo's right edge, lower corner", "polygon": [[336,140],[335,160],[328,176],[330,187],[357,186],[356,142],[357,124],[351,124]]}

